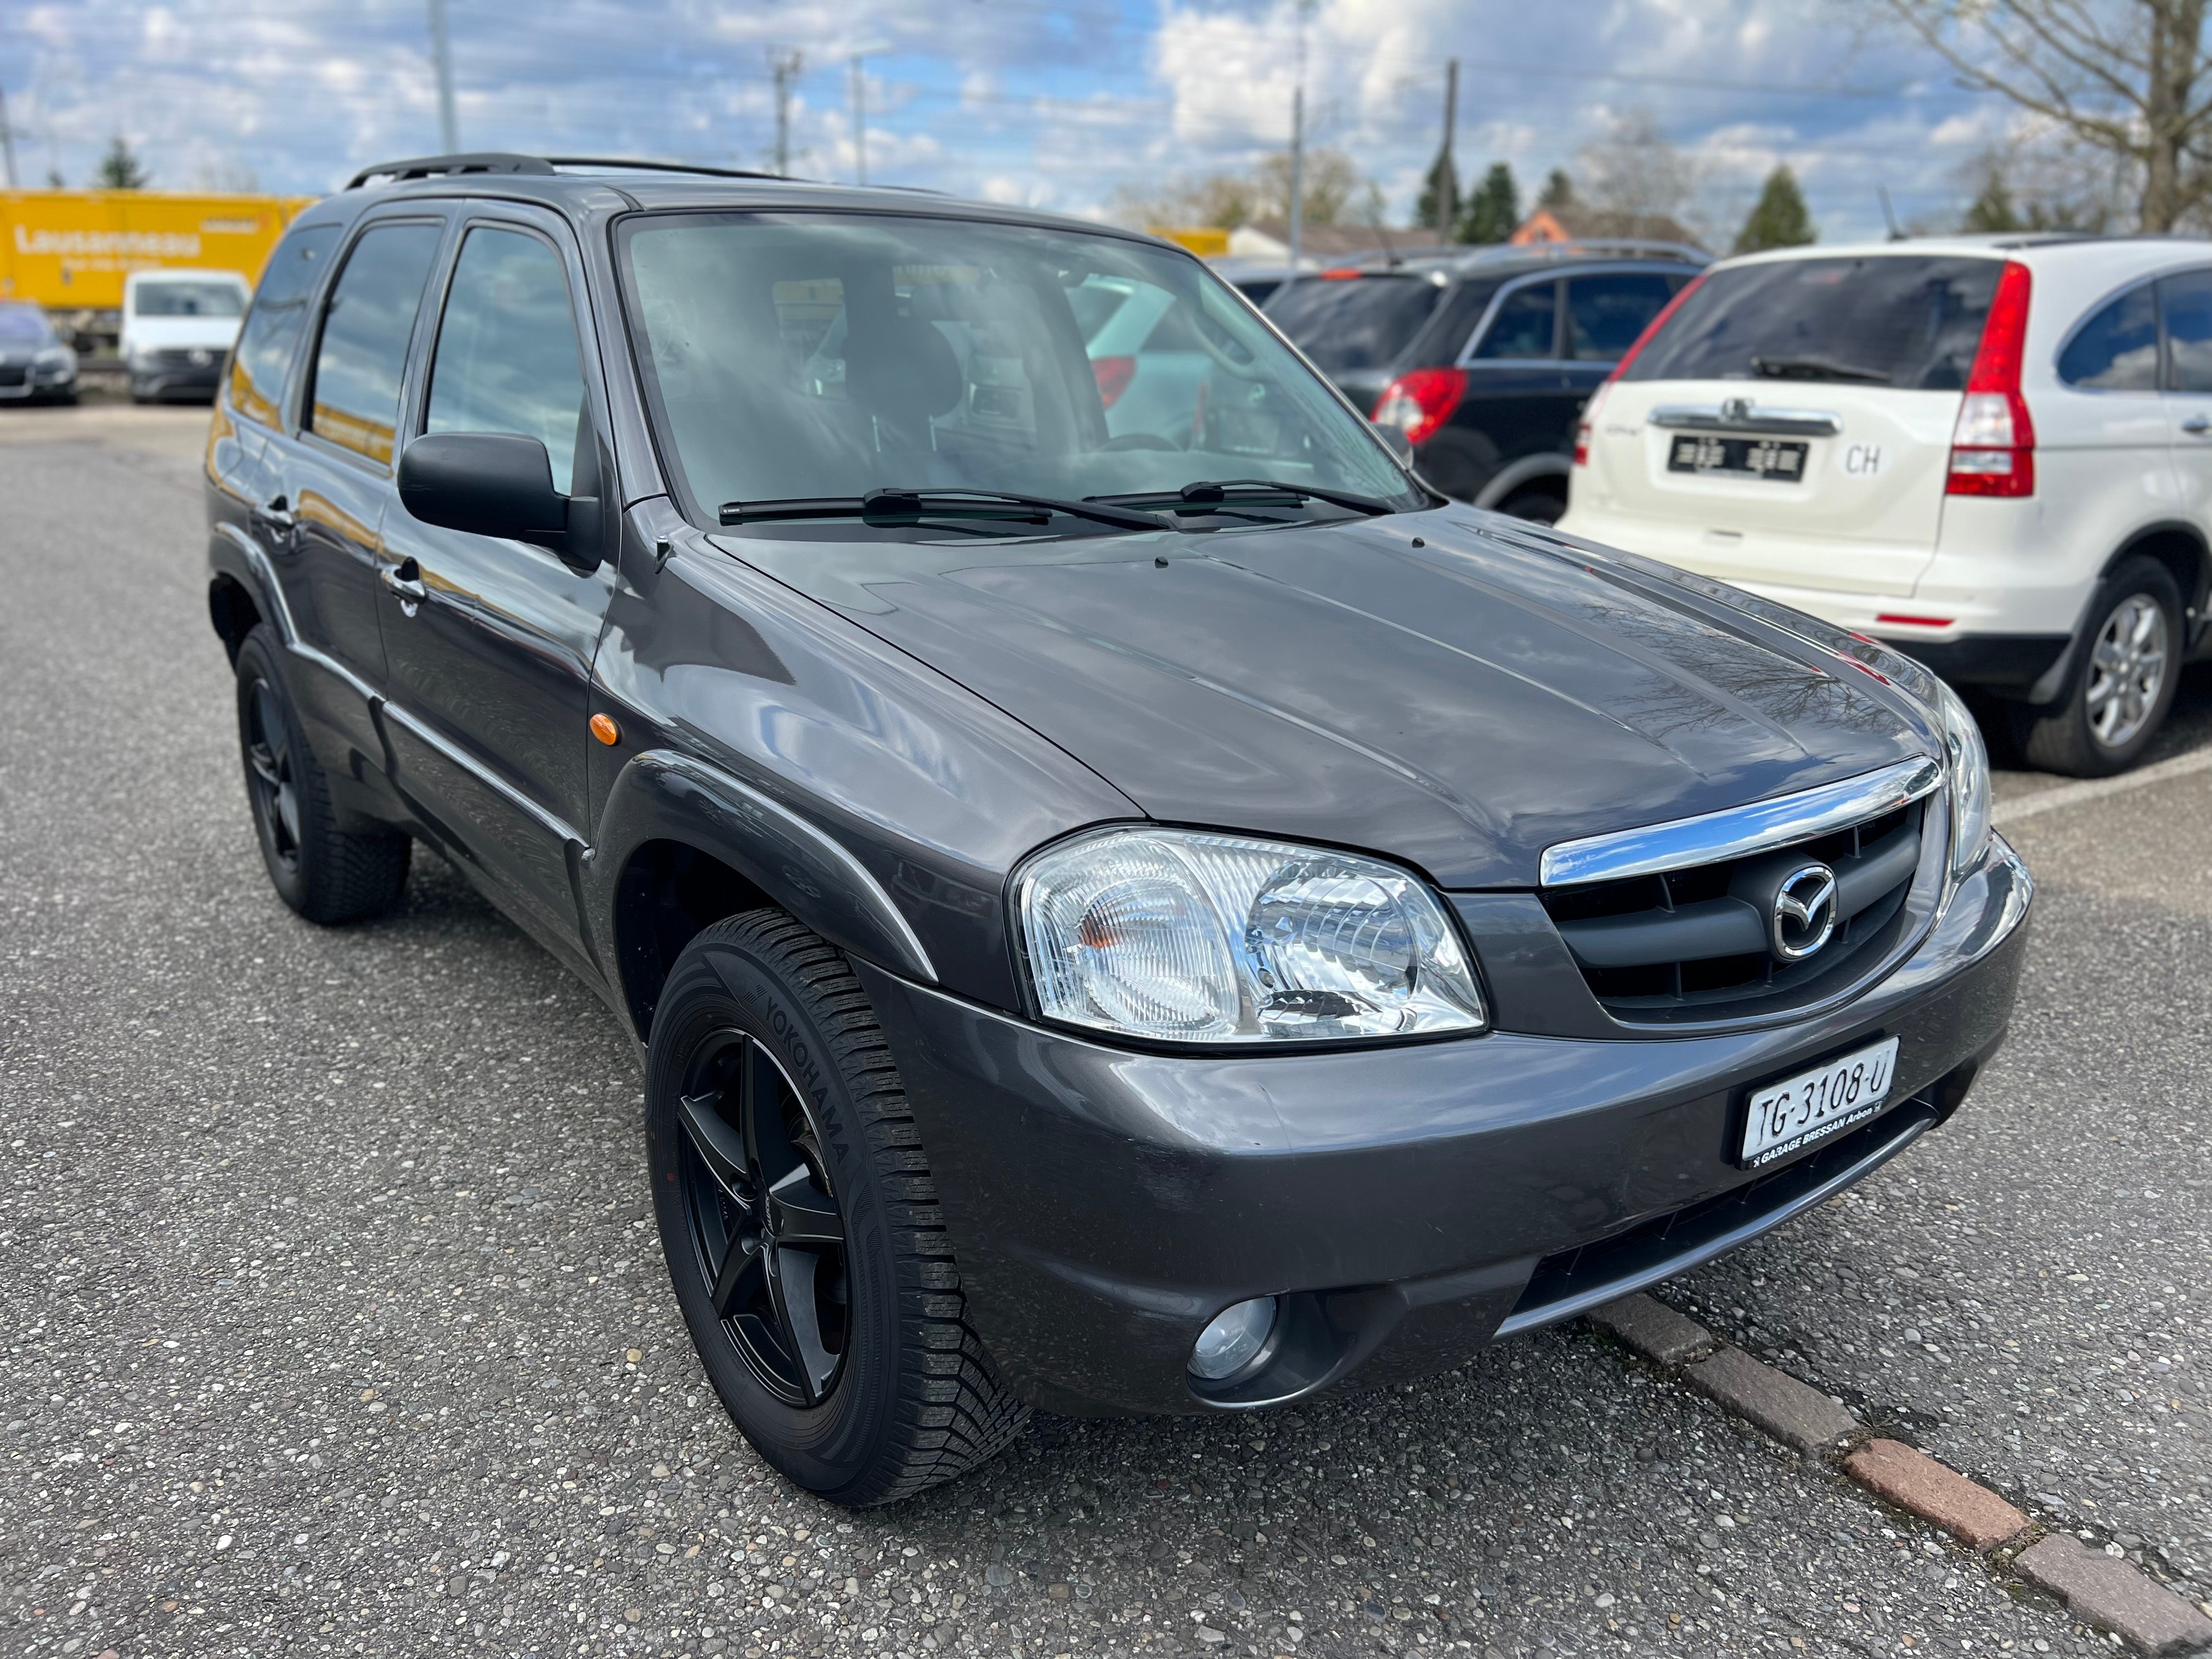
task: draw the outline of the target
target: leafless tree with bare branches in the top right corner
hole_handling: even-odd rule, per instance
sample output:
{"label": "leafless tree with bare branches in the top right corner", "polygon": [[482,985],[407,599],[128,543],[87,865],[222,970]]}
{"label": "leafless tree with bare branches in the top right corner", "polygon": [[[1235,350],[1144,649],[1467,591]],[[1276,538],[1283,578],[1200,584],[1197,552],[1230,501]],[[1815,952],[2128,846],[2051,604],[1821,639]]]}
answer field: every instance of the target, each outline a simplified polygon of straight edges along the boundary
{"label": "leafless tree with bare branches in the top right corner", "polygon": [[2143,230],[2212,195],[2212,0],[1885,0],[1966,86],[2124,159]]}

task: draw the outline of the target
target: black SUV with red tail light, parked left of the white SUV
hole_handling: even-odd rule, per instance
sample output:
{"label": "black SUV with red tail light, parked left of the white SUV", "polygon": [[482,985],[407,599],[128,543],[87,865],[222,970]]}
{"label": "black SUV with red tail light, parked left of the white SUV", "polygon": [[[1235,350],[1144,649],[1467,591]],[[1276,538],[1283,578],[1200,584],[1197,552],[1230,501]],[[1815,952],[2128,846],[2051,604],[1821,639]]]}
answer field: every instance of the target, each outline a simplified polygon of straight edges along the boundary
{"label": "black SUV with red tail light, parked left of the white SUV", "polygon": [[1703,263],[1670,243],[1559,243],[1345,265],[1279,288],[1267,321],[1405,434],[1431,484],[1551,524],[1584,398]]}

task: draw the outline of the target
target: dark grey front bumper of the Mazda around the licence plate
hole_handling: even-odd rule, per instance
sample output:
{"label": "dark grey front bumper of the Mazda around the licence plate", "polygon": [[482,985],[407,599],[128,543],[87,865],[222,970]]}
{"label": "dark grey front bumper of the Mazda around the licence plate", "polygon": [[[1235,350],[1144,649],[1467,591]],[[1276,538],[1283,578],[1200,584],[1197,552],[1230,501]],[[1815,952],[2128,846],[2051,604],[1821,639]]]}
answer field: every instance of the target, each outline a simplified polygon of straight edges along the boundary
{"label": "dark grey front bumper of the Mazda around the licence plate", "polygon": [[[969,1316],[1071,1416],[1274,1405],[1460,1363],[1759,1237],[1949,1117],[2004,1037],[2033,880],[2002,841],[1843,1009],[1697,1037],[1482,1037],[1307,1055],[1108,1048],[880,969]],[[1900,1037],[1871,1124],[1759,1175],[1743,1093]],[[1256,1374],[1201,1396],[1199,1329],[1283,1296]]]}

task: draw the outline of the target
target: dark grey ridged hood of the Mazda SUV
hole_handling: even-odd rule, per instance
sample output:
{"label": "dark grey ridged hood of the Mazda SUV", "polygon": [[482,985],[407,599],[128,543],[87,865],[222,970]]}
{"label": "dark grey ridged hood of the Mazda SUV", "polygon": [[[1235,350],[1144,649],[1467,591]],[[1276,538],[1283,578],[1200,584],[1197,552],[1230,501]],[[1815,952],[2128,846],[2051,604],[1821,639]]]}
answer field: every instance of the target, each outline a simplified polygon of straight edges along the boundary
{"label": "dark grey ridged hood of the Mazda SUV", "polygon": [[1533,887],[1557,841],[1938,752],[1911,697],[1814,635],[1467,507],[998,546],[717,544],[1152,818],[1365,847],[1442,887]]}

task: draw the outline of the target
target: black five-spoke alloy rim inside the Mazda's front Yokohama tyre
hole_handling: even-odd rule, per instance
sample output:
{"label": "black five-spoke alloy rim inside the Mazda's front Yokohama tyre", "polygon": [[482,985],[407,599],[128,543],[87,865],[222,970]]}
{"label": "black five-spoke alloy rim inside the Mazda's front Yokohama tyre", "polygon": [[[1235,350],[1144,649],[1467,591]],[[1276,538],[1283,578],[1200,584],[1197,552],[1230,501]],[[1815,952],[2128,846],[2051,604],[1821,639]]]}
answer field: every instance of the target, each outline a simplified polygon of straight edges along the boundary
{"label": "black five-spoke alloy rim inside the Mazda's front Yokohama tyre", "polygon": [[763,1389],[821,1405],[845,1369],[852,1287],[845,1217],[805,1099],[765,1044],[723,1026],[692,1053],[677,1124],[714,1314]]}

